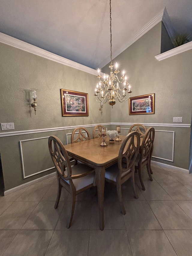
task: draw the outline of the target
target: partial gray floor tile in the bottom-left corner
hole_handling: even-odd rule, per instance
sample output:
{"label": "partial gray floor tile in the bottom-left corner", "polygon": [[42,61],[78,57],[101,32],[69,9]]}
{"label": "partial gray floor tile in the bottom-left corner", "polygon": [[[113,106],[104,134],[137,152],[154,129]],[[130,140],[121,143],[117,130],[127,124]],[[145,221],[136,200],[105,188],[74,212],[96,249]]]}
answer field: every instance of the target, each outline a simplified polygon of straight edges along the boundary
{"label": "partial gray floor tile in the bottom-left corner", "polygon": [[10,245],[17,232],[18,230],[0,230],[0,255],[3,255],[3,252]]}

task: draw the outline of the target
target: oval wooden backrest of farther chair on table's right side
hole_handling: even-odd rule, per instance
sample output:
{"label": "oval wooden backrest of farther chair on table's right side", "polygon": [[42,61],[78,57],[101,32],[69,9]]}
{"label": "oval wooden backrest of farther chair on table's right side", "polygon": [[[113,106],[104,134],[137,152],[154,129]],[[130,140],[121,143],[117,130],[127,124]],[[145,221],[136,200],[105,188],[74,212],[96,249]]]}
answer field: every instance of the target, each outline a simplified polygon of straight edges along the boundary
{"label": "oval wooden backrest of farther chair on table's right side", "polygon": [[140,147],[140,161],[150,157],[150,152],[153,149],[153,142],[155,138],[155,129],[150,127],[143,138],[142,145]]}

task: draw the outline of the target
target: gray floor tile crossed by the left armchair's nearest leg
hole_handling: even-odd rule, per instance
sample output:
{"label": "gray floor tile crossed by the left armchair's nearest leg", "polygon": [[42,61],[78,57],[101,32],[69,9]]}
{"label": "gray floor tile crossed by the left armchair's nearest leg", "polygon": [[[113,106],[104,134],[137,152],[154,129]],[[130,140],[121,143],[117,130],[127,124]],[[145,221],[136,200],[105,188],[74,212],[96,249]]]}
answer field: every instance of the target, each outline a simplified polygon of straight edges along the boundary
{"label": "gray floor tile crossed by the left armchair's nearest leg", "polygon": [[[76,201],[75,211],[73,215],[72,224],[70,230],[87,230],[90,229],[91,224],[91,205],[89,201]],[[66,202],[61,212],[58,223],[55,230],[67,229],[67,223],[70,212],[70,202]]]}

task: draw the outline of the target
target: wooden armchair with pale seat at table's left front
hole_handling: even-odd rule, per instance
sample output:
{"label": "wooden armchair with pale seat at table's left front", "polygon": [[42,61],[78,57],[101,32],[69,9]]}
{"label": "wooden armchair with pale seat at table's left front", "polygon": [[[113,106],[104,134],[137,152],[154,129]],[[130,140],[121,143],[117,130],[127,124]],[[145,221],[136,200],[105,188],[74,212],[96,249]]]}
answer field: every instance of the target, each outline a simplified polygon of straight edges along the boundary
{"label": "wooden armchair with pale seat at table's left front", "polygon": [[67,228],[69,228],[73,219],[76,195],[95,185],[95,169],[86,164],[71,167],[67,151],[56,136],[49,137],[49,152],[56,168],[58,181],[55,209],[58,207],[62,187],[71,195],[70,215],[67,222]]}

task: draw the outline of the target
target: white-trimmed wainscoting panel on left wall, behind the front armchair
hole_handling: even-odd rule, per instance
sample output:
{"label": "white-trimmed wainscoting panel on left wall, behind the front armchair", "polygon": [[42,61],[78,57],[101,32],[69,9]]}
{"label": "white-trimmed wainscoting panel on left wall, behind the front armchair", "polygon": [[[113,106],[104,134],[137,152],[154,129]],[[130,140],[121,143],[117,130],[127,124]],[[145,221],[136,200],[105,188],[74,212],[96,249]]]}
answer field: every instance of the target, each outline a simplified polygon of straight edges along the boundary
{"label": "white-trimmed wainscoting panel on left wall, behind the front armchair", "polygon": [[48,138],[19,141],[24,179],[55,168],[49,153]]}

